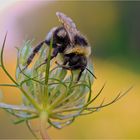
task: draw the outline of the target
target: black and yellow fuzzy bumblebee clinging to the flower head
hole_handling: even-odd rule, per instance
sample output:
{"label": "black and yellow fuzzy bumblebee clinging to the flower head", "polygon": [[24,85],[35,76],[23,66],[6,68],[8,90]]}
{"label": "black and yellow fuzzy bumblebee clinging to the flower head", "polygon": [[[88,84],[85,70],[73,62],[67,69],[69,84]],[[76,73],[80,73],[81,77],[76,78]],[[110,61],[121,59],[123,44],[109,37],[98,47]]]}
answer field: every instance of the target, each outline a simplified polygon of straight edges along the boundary
{"label": "black and yellow fuzzy bumblebee clinging to the flower head", "polygon": [[[53,40],[51,59],[55,58],[58,53],[63,55],[63,64],[56,62],[57,65],[67,70],[79,69],[80,72],[77,77],[77,81],[79,81],[82,72],[87,69],[87,60],[91,54],[91,47],[87,39],[77,30],[75,23],[70,17],[67,17],[61,12],[56,12],[56,16],[62,25],[53,27],[47,34],[46,39],[34,48],[32,54],[27,59],[27,64],[24,69],[29,66],[43,44],[45,43],[47,46],[50,46],[51,40]],[[47,58],[38,67],[46,63]],[[95,77],[89,69],[87,70]]]}

